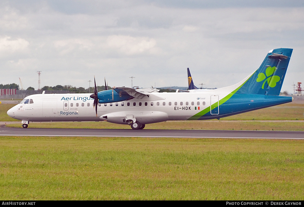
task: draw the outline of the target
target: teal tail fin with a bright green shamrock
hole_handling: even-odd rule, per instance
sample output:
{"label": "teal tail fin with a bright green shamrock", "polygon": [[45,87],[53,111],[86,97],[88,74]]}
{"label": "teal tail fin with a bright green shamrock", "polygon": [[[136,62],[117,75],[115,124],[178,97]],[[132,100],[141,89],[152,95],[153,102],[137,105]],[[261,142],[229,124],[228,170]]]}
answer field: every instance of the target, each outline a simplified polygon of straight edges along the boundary
{"label": "teal tail fin with a bright green shamrock", "polygon": [[269,51],[259,69],[237,93],[280,95],[292,50],[279,48]]}

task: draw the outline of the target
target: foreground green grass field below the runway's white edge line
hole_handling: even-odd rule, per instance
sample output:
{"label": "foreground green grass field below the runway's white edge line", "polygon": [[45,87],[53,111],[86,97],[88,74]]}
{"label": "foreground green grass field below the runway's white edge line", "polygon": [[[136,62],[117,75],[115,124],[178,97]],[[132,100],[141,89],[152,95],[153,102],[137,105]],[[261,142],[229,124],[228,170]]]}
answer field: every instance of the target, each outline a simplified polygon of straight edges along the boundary
{"label": "foreground green grass field below the runway's white edge line", "polygon": [[303,140],[0,137],[1,200],[303,200]]}

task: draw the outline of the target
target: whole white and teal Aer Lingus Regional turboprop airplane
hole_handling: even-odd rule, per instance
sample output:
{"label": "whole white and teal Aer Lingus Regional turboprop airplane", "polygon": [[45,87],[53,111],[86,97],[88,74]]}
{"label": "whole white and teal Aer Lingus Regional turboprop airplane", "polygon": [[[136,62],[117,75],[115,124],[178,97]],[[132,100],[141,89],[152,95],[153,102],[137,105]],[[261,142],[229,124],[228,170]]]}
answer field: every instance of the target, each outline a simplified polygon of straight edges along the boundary
{"label": "whole white and teal Aer Lingus Regional turboprop airplane", "polygon": [[22,120],[23,128],[30,121],[108,121],[143,129],[167,120],[220,119],[292,102],[292,97],[279,96],[291,54],[288,48],[271,50],[256,71],[229,87],[194,88],[190,72],[188,93],[126,87],[97,92],[95,83],[94,94],[29,95],[7,114]]}

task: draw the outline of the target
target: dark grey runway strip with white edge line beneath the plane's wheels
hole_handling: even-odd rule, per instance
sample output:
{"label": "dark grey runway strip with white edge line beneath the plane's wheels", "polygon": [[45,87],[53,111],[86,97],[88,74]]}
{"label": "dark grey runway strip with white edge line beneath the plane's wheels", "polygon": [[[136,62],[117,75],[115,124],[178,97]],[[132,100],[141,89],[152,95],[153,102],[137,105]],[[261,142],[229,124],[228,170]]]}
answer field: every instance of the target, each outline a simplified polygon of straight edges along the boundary
{"label": "dark grey runway strip with white edge line beneath the plane's wheels", "polygon": [[304,139],[304,131],[0,128],[0,136]]}

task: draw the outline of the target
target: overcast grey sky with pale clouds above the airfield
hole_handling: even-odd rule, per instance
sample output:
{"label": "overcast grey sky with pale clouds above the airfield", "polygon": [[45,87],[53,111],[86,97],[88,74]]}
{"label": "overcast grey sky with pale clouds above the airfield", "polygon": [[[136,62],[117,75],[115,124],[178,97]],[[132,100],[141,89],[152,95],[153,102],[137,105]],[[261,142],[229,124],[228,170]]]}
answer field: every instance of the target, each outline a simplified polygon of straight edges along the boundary
{"label": "overcast grey sky with pale clouds above the airfield", "polygon": [[[282,91],[304,87],[304,1],[0,1],[0,83],[233,85],[293,48]],[[91,82],[91,86],[94,82]]]}

